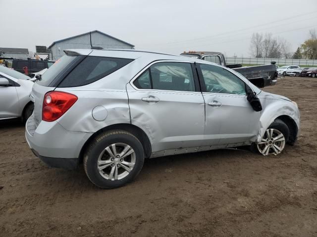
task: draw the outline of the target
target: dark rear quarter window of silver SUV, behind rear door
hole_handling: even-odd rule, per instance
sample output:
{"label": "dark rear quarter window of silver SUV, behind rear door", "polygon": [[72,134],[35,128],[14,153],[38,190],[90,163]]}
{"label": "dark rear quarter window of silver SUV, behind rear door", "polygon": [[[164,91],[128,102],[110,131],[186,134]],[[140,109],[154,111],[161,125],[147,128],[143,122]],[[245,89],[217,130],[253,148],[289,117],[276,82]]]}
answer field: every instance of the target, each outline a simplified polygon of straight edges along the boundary
{"label": "dark rear quarter window of silver SUV, behind rear door", "polygon": [[90,84],[117,71],[132,61],[132,59],[124,58],[87,56],[60,82],[58,87],[74,87]]}

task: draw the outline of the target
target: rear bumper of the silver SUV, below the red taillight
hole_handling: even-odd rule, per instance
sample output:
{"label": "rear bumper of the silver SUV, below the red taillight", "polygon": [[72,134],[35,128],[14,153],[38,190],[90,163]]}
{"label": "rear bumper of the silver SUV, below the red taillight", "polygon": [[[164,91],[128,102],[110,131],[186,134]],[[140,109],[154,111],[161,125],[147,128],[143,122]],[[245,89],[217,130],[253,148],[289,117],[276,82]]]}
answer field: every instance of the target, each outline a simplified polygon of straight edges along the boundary
{"label": "rear bumper of the silver SUV, below the red taillight", "polygon": [[66,131],[58,122],[41,121],[35,127],[31,116],[25,129],[33,153],[52,167],[74,169],[82,147],[92,133]]}

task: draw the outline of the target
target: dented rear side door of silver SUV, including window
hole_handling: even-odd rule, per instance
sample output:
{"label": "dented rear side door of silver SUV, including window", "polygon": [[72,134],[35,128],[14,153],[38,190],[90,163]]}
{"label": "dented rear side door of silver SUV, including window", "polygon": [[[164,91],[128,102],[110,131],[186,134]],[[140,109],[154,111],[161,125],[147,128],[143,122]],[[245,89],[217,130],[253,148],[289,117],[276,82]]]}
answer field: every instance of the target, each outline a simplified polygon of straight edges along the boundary
{"label": "dented rear side door of silver SUV, including window", "polygon": [[205,102],[193,63],[154,62],[127,84],[127,93],[131,123],[148,134],[152,152],[177,154],[204,142]]}

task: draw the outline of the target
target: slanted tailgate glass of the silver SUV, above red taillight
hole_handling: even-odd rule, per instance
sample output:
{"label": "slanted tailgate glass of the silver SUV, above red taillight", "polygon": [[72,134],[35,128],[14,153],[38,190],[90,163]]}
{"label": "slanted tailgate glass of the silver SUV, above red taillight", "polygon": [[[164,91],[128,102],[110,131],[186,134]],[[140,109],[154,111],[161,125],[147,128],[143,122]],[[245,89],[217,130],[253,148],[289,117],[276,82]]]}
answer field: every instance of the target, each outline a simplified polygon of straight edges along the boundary
{"label": "slanted tailgate glass of the silver SUV, above red taillight", "polygon": [[49,86],[53,79],[55,79],[55,77],[75,59],[76,56],[62,56],[42,75],[40,80],[37,80],[36,83]]}

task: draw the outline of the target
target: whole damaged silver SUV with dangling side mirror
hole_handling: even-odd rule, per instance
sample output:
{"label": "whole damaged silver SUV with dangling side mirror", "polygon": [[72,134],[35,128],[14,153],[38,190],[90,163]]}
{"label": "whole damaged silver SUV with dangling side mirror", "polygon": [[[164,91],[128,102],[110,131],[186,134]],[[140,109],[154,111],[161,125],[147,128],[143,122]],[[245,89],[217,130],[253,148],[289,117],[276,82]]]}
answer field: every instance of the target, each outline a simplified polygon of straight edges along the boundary
{"label": "whole damaged silver SUV with dangling side mirror", "polygon": [[135,50],[66,50],[31,93],[26,140],[49,166],[80,162],[101,188],[133,180],[145,158],[251,145],[278,155],[300,112],[239,73]]}

